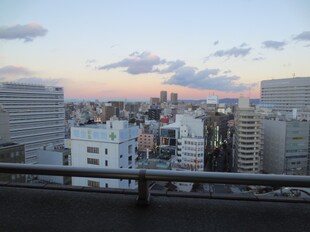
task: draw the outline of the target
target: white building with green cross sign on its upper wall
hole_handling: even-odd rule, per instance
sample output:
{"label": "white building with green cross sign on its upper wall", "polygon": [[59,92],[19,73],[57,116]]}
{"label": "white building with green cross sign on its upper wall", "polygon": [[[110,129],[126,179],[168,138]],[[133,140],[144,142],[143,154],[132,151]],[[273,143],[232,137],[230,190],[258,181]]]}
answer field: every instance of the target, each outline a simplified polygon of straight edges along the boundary
{"label": "white building with green cross sign on its upper wall", "polygon": [[[127,121],[71,128],[73,167],[135,168],[138,126]],[[72,185],[135,188],[135,181],[72,177]]]}

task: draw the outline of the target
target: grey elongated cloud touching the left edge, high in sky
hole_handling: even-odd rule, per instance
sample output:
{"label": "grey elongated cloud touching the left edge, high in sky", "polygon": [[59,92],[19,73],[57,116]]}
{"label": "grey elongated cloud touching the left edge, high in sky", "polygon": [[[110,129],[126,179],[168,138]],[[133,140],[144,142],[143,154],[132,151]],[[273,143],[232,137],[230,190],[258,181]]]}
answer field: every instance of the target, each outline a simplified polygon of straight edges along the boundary
{"label": "grey elongated cloud touching the left edge, high in sky", "polygon": [[45,36],[46,33],[47,29],[37,23],[0,27],[0,39],[6,40],[21,39],[24,42],[31,42],[35,37]]}

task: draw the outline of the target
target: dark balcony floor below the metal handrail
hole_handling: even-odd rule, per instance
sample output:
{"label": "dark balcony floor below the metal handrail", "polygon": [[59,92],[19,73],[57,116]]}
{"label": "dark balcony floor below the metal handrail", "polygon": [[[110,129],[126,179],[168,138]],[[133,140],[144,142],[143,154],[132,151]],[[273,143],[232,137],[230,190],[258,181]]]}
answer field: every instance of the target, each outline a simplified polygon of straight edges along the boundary
{"label": "dark balcony floor below the metal handrail", "polygon": [[[69,189],[70,190],[70,189]],[[0,186],[0,231],[309,231],[310,202],[261,202]],[[117,192],[117,191],[115,191]]]}

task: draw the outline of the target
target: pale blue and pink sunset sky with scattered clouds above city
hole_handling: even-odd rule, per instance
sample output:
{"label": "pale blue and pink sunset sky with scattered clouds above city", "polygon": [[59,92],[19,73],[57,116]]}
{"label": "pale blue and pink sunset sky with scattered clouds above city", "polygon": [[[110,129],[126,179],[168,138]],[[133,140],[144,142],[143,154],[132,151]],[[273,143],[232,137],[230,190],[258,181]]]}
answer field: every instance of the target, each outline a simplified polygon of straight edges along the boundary
{"label": "pale blue and pink sunset sky with scattered clouds above city", "polygon": [[310,77],[308,0],[0,0],[0,81],[65,98],[260,97]]}

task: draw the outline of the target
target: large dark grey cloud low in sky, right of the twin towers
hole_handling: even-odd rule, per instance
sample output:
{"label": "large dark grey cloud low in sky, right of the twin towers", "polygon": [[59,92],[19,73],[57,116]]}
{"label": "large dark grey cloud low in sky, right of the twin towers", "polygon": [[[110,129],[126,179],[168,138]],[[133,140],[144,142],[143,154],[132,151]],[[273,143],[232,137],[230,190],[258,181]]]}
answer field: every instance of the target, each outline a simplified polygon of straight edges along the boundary
{"label": "large dark grey cloud low in sky, right of the twin towers", "polygon": [[194,89],[218,90],[227,92],[242,92],[253,87],[253,85],[238,84],[240,77],[220,75],[219,69],[204,69],[198,71],[193,67],[182,67],[178,69],[163,84],[180,85]]}

